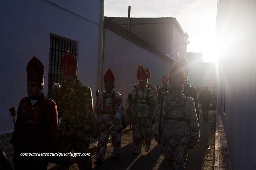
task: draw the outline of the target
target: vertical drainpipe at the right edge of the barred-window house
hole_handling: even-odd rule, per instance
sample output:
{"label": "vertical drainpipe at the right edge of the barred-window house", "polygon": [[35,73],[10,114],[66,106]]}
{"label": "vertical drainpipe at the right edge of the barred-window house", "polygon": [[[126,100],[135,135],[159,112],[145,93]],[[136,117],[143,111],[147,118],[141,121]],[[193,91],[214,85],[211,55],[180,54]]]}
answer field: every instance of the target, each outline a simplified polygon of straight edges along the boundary
{"label": "vertical drainpipe at the right edge of the barred-window house", "polygon": [[97,74],[97,89],[102,91],[102,71],[103,71],[103,28],[104,28],[104,0],[100,0],[100,35],[99,35],[99,56],[98,56],[98,74]]}

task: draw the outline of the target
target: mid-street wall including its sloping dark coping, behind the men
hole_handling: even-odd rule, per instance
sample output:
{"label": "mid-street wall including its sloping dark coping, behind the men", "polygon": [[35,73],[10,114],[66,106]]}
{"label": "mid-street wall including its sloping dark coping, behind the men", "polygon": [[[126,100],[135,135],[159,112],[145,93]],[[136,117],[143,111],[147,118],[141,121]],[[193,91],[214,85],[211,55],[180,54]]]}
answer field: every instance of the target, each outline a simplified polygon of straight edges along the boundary
{"label": "mid-street wall including its sloping dark coping, behind the men", "polygon": [[[163,75],[168,75],[173,60],[156,47],[129,32],[116,23],[104,21],[103,73],[109,67],[115,74],[115,91],[120,92],[124,107],[128,94],[138,85],[137,69],[139,64],[148,67],[151,73],[149,84],[162,86]],[[124,112],[126,122],[129,116]]]}

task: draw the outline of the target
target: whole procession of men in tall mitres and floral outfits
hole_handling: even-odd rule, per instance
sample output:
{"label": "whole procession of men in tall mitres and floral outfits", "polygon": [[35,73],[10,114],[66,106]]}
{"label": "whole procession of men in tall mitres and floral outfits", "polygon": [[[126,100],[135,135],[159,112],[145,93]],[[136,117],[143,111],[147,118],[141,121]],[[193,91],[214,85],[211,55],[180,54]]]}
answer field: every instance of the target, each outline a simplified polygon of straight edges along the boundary
{"label": "whole procession of men in tall mitres and floral outfits", "polygon": [[[185,60],[172,66],[168,76],[159,76],[163,86],[158,89],[149,85],[149,69],[139,65],[139,86],[131,89],[125,109],[122,94],[114,91],[115,74],[111,68],[103,78],[105,91],[97,92],[93,106],[91,88],[82,85],[77,79],[76,57],[67,51],[60,65],[64,84],[59,89],[56,104],[41,92],[44,88],[44,65],[36,56],[28,62],[28,97],[20,101],[11,140],[15,170],[47,169],[48,162],[55,162],[58,169],[69,169],[70,156],[22,157],[20,153],[68,153],[72,150],[87,153],[92,137],[98,137],[96,160],[92,160],[91,156],[77,156],[78,168],[92,169],[92,162],[98,167],[104,167],[109,135],[113,144],[112,161],[122,162],[119,157],[122,154],[124,112],[132,117],[133,154],[140,154],[142,149],[148,152],[152,135],[155,135],[170,168],[185,168],[188,149],[195,148],[200,138],[197,89],[188,84],[189,67]],[[206,94],[210,96],[208,91],[205,87],[201,92],[202,100]],[[204,119],[207,120],[208,104],[203,107]],[[15,110],[12,112],[15,115]],[[153,131],[154,119],[156,123]]]}

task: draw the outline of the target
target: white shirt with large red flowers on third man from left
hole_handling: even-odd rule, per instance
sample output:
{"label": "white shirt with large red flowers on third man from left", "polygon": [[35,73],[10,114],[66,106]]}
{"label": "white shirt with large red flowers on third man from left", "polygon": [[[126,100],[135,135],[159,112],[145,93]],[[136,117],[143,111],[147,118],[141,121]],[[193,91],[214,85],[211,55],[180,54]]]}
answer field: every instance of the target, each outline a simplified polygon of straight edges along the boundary
{"label": "white shirt with large red flowers on third man from left", "polygon": [[[105,105],[103,106],[104,94],[106,95],[106,101],[105,101]],[[113,95],[114,95],[114,101],[113,101],[114,103],[112,103]],[[113,112],[113,104],[115,106],[114,112]],[[111,112],[113,112],[113,114],[111,114]],[[101,115],[100,119],[104,119],[105,121],[109,121],[113,118],[116,118],[117,120],[121,120],[123,112],[124,112],[123,98],[120,93],[112,90],[110,93],[103,91],[99,94],[99,103],[98,101],[96,101],[96,104],[94,107],[94,116],[96,120],[98,120],[100,115]]]}

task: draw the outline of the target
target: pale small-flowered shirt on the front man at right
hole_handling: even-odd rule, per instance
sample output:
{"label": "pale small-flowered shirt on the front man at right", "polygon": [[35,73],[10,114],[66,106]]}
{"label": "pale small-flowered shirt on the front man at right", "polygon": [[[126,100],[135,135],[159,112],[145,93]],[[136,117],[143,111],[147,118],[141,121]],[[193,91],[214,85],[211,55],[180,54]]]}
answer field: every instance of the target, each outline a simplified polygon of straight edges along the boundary
{"label": "pale small-flowered shirt on the front man at right", "polygon": [[[183,107],[170,107],[183,106],[186,100],[186,112],[183,113]],[[180,119],[185,117],[187,121],[170,120],[174,118]],[[159,122],[161,121],[161,136],[164,142],[172,144],[189,143],[190,138],[199,138],[199,125],[196,116],[196,109],[194,99],[181,95],[179,98],[172,96],[165,96],[163,101],[163,112],[160,119],[160,109],[157,113],[155,135],[159,135]]]}

